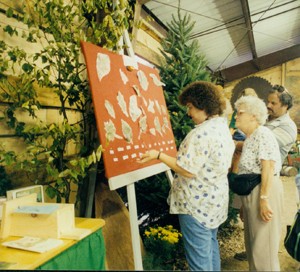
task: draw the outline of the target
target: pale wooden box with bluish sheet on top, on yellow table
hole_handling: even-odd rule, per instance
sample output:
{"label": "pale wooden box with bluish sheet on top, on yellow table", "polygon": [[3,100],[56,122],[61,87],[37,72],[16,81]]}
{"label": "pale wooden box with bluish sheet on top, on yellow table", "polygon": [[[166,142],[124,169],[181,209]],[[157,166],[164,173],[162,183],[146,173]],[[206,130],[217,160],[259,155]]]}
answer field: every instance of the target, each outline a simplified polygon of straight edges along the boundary
{"label": "pale wooden box with bluish sheet on top, on yellow table", "polygon": [[32,236],[79,240],[90,230],[75,227],[74,204],[37,202],[36,194],[3,203],[0,238]]}

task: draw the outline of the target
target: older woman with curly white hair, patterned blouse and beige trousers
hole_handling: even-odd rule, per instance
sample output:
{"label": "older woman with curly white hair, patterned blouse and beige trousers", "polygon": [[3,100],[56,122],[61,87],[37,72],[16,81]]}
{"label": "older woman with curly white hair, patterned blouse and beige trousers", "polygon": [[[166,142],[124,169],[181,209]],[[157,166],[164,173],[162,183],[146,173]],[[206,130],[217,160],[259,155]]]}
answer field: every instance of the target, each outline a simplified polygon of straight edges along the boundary
{"label": "older woman with curly white hair, patterned blouse and beige trousers", "polygon": [[261,174],[261,183],[249,195],[241,196],[249,270],[279,271],[283,188],[278,143],[272,131],[263,126],[268,111],[261,99],[243,96],[235,108],[236,127],[246,134],[239,174]]}

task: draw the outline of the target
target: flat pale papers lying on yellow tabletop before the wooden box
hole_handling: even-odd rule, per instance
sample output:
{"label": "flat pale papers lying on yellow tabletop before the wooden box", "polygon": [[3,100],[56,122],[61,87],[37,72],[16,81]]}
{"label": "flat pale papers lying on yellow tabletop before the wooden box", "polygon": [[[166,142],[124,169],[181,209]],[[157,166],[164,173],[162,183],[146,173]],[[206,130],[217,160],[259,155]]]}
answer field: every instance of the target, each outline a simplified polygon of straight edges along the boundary
{"label": "flat pale papers lying on yellow tabletop before the wooden box", "polygon": [[43,253],[63,244],[62,240],[25,236],[21,239],[4,242],[3,246]]}

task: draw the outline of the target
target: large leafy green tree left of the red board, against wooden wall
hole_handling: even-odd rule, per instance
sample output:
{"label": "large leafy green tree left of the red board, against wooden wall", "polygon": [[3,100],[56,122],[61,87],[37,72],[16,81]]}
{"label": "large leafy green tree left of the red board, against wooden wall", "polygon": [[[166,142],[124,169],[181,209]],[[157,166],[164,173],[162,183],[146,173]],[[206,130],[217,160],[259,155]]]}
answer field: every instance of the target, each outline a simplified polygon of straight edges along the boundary
{"label": "large leafy green tree left of the red board, against wooden wall", "polygon": [[[7,35],[26,41],[28,49],[32,44],[36,52],[0,42],[0,100],[6,102],[0,121],[26,146],[22,154],[2,147],[0,163],[23,171],[35,184],[47,185],[47,194],[58,202],[69,202],[72,183],[80,192],[91,165],[100,160],[102,150],[95,144],[95,121],[80,41],[112,51],[120,49],[118,41],[130,27],[132,11],[128,1],[117,2],[23,1],[19,10],[8,8],[6,16],[26,28],[1,23]],[[54,107],[59,110],[59,122],[45,123],[37,117],[45,108],[38,96],[44,90],[59,101]],[[78,121],[70,121],[71,111],[80,116]],[[30,116],[32,122],[22,121],[22,115]],[[79,147],[74,156],[67,155],[70,144]]]}

